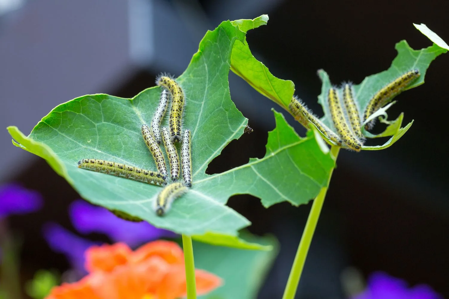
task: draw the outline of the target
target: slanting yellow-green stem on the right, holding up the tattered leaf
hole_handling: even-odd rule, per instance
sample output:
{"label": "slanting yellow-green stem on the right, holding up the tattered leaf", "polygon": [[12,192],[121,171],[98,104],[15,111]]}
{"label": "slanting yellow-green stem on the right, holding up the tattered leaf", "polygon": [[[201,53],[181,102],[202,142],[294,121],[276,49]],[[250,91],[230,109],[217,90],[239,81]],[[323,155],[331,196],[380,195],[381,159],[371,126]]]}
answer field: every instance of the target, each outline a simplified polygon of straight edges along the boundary
{"label": "slanting yellow-green stem on the right, holding up the tattered leaf", "polygon": [[[331,155],[334,160],[337,160],[340,147],[333,146],[330,149]],[[327,186],[329,186],[330,178],[332,177],[332,172],[334,169],[330,170],[329,180]],[[301,273],[303,272],[304,263],[306,261],[307,252],[312,243],[313,233],[317,227],[318,218],[320,217],[321,208],[324,204],[324,199],[326,197],[328,187],[323,187],[318,193],[315,200],[313,200],[312,208],[310,209],[309,216],[307,218],[307,223],[304,228],[303,236],[299,242],[298,251],[296,251],[295,260],[290,270],[290,276],[288,277],[287,285],[284,290],[284,295],[282,299],[294,299],[296,294],[296,289],[298,288],[299,278],[301,278]]]}

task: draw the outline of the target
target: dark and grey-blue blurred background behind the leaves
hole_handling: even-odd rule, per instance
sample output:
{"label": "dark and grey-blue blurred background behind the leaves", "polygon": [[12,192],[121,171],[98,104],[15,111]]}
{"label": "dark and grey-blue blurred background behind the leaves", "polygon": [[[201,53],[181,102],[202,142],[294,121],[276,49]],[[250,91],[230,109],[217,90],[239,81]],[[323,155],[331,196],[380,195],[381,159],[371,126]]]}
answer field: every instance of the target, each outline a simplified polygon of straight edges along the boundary
{"label": "dark and grey-blue blurred background behind the leaves", "polygon": [[[37,269],[68,268],[42,238],[41,225],[56,221],[73,229],[67,207],[79,195],[44,160],[14,147],[6,126],[29,134],[57,104],[85,94],[132,97],[154,86],[160,72],[180,75],[206,30],[264,13],[268,25],[247,34],[253,54],[275,76],[295,82],[296,94],[321,116],[317,69],[335,84],[358,84],[389,67],[400,40],[414,49],[431,45],[412,23],[448,42],[448,11],[449,2],[438,0],[0,0],[0,180],[44,198],[40,212],[9,219],[22,238],[21,279]],[[346,298],[350,267],[362,277],[383,270],[449,296],[448,69],[448,54],[437,57],[426,83],[396,98],[389,116],[404,112],[404,123],[414,124],[392,147],[341,152],[297,298]],[[229,83],[254,132],[229,144],[207,173],[263,157],[274,127],[270,108],[282,111],[233,73]],[[287,120],[304,136],[304,128]],[[259,199],[239,195],[229,205],[252,222],[252,233],[279,239],[258,298],[280,298],[311,204],[264,209]]]}

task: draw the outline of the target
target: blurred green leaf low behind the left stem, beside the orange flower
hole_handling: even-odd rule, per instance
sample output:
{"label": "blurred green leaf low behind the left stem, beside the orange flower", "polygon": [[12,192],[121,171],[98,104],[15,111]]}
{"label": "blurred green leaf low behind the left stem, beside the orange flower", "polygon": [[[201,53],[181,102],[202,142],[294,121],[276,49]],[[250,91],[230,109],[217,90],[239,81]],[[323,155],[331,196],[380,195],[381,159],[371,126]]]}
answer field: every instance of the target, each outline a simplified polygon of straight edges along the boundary
{"label": "blurred green leaf low behind the left stem, beside the orange flower", "polygon": [[194,242],[195,268],[223,278],[225,284],[201,299],[252,299],[268,274],[278,244],[273,237],[256,238],[253,242],[271,246],[273,251],[239,250]]}

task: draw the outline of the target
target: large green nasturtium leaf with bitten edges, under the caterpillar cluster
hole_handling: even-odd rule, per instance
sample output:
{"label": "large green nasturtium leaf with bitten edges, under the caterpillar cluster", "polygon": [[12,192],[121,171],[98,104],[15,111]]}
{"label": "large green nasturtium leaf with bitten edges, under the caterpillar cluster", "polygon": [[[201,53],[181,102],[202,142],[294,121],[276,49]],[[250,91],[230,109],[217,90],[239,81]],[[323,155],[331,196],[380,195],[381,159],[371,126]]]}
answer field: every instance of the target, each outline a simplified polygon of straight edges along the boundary
{"label": "large green nasturtium leaf with bitten edges, under the caterpillar cluster", "polygon": [[186,93],[183,128],[192,132],[193,187],[164,217],[156,216],[152,208],[161,187],[77,167],[78,160],[95,158],[155,170],[141,125],[153,117],[159,87],[148,88],[132,99],[97,94],[70,100],[42,118],[27,137],[17,127],[9,127],[13,143],[47,160],[92,204],[126,212],[202,242],[254,248],[235,238],[250,222],[225,205],[229,197],[248,193],[262,199],[264,206],[281,201],[304,204],[327,185],[335,164],[330,154],[320,150],[313,134],[299,138],[283,116],[275,113],[277,127],[269,133],[264,158],[251,159],[224,173],[205,173],[209,162],[239,138],[247,124],[230,99],[228,84],[233,44],[244,41],[245,34],[229,21],[208,31],[189,66],[176,79]]}

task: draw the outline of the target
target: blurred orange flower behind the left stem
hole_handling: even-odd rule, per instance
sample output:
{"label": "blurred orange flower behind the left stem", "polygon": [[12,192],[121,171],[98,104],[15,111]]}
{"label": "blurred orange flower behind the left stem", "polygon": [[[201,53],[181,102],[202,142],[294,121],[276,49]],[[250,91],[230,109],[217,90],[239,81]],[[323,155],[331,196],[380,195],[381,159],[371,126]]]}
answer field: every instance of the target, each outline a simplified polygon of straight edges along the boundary
{"label": "blurred orange flower behind the left stem", "polygon": [[[88,276],[53,288],[47,299],[177,299],[186,294],[184,253],[174,242],[154,241],[136,251],[126,244],[86,251]],[[221,285],[220,277],[195,270],[198,295]]]}

